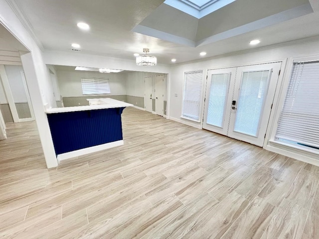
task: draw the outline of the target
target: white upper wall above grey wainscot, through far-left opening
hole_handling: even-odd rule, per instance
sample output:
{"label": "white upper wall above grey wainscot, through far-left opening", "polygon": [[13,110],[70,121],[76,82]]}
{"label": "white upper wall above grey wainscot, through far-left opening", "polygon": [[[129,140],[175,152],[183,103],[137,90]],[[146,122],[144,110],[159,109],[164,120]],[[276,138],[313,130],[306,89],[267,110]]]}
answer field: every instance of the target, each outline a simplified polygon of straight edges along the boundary
{"label": "white upper wall above grey wainscot, through far-left opening", "polygon": [[4,68],[9,81],[14,103],[27,102],[28,100],[26,98],[26,93],[21,76],[21,71],[23,71],[22,66],[4,65]]}

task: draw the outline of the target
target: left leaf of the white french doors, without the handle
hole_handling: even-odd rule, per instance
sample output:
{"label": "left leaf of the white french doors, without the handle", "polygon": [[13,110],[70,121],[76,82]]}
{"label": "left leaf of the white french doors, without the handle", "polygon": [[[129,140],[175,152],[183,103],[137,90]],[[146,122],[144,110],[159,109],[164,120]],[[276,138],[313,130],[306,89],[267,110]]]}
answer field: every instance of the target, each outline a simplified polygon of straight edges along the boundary
{"label": "left leaf of the white french doors, without the handle", "polygon": [[203,128],[227,135],[236,68],[209,70]]}

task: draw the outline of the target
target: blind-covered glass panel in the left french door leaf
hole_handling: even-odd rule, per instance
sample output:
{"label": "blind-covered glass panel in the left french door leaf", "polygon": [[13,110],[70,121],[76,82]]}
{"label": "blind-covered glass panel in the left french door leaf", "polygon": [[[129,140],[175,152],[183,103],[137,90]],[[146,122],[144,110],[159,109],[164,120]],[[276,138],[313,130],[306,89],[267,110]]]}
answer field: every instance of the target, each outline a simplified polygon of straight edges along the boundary
{"label": "blind-covered glass panel in the left french door leaf", "polygon": [[211,75],[207,124],[217,127],[223,126],[229,75],[230,74]]}

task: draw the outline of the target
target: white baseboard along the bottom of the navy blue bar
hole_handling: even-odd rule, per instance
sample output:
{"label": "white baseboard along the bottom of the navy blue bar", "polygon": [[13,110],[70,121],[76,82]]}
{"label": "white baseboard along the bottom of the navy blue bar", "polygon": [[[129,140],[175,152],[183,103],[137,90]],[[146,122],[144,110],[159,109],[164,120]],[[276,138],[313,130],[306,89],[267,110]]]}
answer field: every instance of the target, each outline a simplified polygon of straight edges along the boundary
{"label": "white baseboard along the bottom of the navy blue bar", "polygon": [[62,160],[78,157],[78,156],[85,155],[88,153],[94,153],[94,152],[105,150],[108,148],[117,147],[117,146],[120,146],[123,144],[124,144],[123,140],[118,140],[118,141],[114,141],[114,142],[110,142],[110,143],[104,143],[104,144],[100,144],[100,145],[96,145],[96,146],[92,146],[92,147],[88,147],[88,148],[74,150],[74,151],[67,152],[67,153],[61,153],[61,154],[58,154],[58,156],[56,158],[58,159],[58,162],[61,162]]}

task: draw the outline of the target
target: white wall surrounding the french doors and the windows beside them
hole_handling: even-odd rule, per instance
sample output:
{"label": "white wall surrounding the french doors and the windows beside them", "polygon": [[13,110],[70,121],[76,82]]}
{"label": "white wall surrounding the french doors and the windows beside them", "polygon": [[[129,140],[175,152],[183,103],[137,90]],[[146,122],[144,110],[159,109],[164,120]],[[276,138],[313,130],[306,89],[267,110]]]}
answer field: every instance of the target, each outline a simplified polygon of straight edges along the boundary
{"label": "white wall surrounding the french doors and the windows beside them", "polygon": [[[266,63],[272,61],[283,61],[284,64],[281,69],[281,77],[279,79],[276,95],[274,99],[274,106],[271,113],[269,127],[266,135],[266,143],[264,148],[284,154],[286,156],[294,157],[296,159],[306,161],[319,165],[319,154],[310,154],[303,151],[298,151],[293,148],[284,148],[280,145],[275,145],[270,142],[273,136],[271,132],[277,128],[277,120],[275,117],[280,115],[283,98],[286,92],[286,88],[283,85],[288,85],[291,75],[291,64],[293,58],[307,57],[307,56],[319,56],[319,37],[311,37],[308,39],[297,40],[294,42],[288,42],[279,44],[272,47],[265,47],[255,49],[250,52],[236,54],[224,57],[214,57],[202,61],[195,61],[185,64],[174,65],[171,68],[171,74],[169,75],[169,92],[168,92],[168,118],[174,119],[195,127],[201,128],[201,123],[189,121],[187,119],[181,119],[181,106],[182,106],[182,86],[183,86],[183,73],[189,70],[204,69],[204,74],[207,74],[208,69],[216,69],[223,67],[234,67],[241,65],[250,65],[258,63]],[[285,63],[287,62],[287,66]],[[204,98],[205,83],[203,85],[203,98]],[[174,96],[177,94],[177,97]],[[281,98],[281,100],[280,100]],[[203,99],[202,99],[203,102]],[[203,109],[201,111],[201,117]],[[278,118],[277,118],[278,119]]]}

